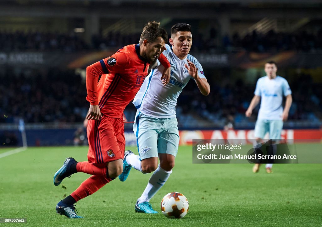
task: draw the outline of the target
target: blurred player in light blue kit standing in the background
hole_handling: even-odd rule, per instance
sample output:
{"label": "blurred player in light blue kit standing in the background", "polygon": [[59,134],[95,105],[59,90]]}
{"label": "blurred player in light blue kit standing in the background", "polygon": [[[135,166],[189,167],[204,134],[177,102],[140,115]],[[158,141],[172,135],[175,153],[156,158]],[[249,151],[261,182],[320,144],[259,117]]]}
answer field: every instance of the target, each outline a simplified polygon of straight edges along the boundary
{"label": "blurred player in light blue kit standing in the background", "polygon": [[[286,79],[276,76],[276,72],[277,66],[274,61],[269,61],[265,64],[266,76],[258,79],[255,95],[245,113],[246,117],[250,117],[255,106],[260,102],[254,132],[256,144],[261,143],[267,132],[269,132],[269,138],[273,142],[280,140],[283,121],[286,121],[289,117],[292,92]],[[286,97],[284,110],[282,107],[283,96]],[[273,164],[266,164],[267,173],[272,172],[272,166]],[[257,173],[259,168],[260,164],[256,163],[253,167],[253,172]]]}

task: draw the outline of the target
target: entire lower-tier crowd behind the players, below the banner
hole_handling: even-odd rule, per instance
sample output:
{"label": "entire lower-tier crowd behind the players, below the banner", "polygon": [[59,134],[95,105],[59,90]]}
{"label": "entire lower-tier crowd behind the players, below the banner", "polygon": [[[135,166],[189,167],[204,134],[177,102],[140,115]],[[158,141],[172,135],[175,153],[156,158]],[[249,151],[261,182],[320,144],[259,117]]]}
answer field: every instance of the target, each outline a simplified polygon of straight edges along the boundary
{"label": "entire lower-tier crowd behind the players, below the banner", "polygon": [[[179,96],[179,127],[198,125],[219,128],[223,127],[230,115],[234,117],[237,126],[238,123],[249,122],[249,127],[252,127],[257,113],[255,111],[249,120],[245,117],[245,111],[253,96],[255,84],[245,84],[242,80],[237,80],[235,84],[228,81],[218,84],[215,77],[207,78],[211,84],[211,93],[206,98],[192,82],[187,84]],[[318,122],[322,118],[321,84],[313,83],[311,76],[306,74],[299,75],[296,81],[290,81],[289,84],[293,92],[289,120]],[[89,107],[86,95],[85,82],[71,70],[50,69],[42,73],[39,71],[37,75],[21,74],[18,77],[8,73],[0,84],[0,113],[5,116],[0,118],[0,122],[10,123],[18,117],[24,117],[26,123],[82,122]],[[130,103],[125,111],[128,121],[134,119],[135,112],[136,109]]]}

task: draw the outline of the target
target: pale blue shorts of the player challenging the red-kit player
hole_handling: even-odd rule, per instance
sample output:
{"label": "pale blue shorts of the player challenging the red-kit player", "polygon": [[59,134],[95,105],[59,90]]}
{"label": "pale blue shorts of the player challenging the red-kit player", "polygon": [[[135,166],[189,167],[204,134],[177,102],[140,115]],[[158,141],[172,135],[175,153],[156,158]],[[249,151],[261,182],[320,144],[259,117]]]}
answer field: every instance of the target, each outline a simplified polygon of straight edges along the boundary
{"label": "pale blue shorts of the player challenging the red-kit player", "polygon": [[177,119],[155,118],[137,111],[133,131],[137,138],[140,160],[158,157],[158,154],[176,156],[179,146]]}

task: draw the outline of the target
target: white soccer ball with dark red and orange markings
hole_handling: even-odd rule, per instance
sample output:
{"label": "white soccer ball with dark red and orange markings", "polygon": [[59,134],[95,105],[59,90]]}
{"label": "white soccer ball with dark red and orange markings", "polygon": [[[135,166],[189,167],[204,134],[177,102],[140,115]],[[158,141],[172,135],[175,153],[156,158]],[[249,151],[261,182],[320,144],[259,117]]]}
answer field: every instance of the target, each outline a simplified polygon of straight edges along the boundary
{"label": "white soccer ball with dark red and orange markings", "polygon": [[168,193],[161,201],[161,211],[167,218],[183,218],[188,210],[189,202],[179,192]]}

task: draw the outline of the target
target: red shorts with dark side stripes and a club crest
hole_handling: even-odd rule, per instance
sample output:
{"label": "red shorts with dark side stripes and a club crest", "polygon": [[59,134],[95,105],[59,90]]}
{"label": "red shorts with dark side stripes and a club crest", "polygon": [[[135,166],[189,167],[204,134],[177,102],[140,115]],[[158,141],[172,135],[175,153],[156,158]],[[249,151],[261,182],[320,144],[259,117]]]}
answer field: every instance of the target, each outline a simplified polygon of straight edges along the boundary
{"label": "red shorts with dark side stripes and a club crest", "polygon": [[123,159],[125,150],[123,119],[103,116],[98,121],[89,120],[87,137],[89,162],[106,163]]}

